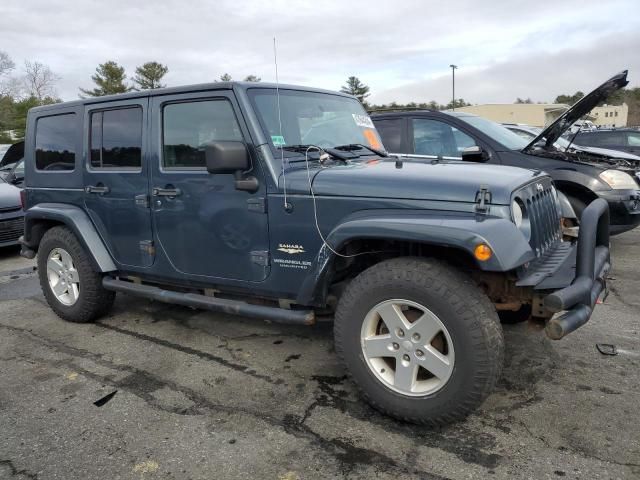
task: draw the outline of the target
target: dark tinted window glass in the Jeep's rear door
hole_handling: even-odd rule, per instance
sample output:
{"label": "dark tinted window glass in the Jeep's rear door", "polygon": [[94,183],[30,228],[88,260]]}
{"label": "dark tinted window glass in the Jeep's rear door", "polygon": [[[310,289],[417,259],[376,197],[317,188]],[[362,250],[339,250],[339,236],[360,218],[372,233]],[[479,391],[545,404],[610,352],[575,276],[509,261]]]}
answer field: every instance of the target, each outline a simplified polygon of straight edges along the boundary
{"label": "dark tinted window glass in the Jeep's rear door", "polygon": [[142,165],[142,108],[91,114],[91,168],[134,169]]}

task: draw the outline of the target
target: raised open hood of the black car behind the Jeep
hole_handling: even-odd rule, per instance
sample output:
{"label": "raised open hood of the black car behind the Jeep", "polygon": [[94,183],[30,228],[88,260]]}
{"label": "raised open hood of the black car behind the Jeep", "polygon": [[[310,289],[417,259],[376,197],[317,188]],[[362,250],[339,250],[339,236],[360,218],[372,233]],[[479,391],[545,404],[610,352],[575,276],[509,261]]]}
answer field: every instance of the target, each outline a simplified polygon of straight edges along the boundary
{"label": "raised open hood of the black car behind the Jeep", "polygon": [[571,108],[560,115],[555,122],[542,130],[540,135],[534,138],[529,145],[522,149],[522,151],[524,153],[531,153],[534,146],[542,140],[544,140],[545,148],[553,146],[556,140],[558,140],[564,132],[569,130],[571,125],[573,125],[577,120],[580,120],[580,118],[593,110],[593,108],[600,102],[606,100],[613,92],[625,87],[629,83],[627,80],[627,73],[628,70],[623,70],[617,75],[611,77],[588,95],[582,97]]}

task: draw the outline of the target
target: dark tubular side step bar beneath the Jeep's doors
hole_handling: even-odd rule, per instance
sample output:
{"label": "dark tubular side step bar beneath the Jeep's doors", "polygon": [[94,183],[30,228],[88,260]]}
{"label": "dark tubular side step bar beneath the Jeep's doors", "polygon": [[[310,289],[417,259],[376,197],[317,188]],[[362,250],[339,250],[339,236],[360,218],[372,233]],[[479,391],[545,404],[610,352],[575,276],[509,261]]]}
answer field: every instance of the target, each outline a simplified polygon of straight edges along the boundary
{"label": "dark tubular side step bar beneath the Jeep's doors", "polygon": [[285,310],[284,308],[252,305],[238,300],[208,297],[197,293],[181,293],[163,290],[152,285],[125,282],[112,277],[104,277],[102,286],[114,292],[129,293],[139,297],[150,298],[163,303],[185,305],[187,307],[202,308],[214,312],[242,315],[246,317],[262,318],[277,323],[292,325],[313,325],[316,321],[312,310]]}

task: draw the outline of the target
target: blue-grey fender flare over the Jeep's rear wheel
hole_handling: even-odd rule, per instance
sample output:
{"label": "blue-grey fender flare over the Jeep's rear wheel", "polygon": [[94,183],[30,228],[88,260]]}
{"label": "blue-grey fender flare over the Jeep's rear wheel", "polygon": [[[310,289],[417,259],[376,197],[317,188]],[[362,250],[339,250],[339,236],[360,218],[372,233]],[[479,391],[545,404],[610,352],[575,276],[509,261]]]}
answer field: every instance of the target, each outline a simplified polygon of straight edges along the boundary
{"label": "blue-grey fender flare over the Jeep's rear wheel", "polygon": [[98,235],[89,216],[75,205],[66,203],[41,203],[29,208],[24,215],[24,237],[22,244],[37,250],[44,231],[38,224],[61,223],[69,227],[93,260],[94,268],[99,272],[117,270],[107,247]]}

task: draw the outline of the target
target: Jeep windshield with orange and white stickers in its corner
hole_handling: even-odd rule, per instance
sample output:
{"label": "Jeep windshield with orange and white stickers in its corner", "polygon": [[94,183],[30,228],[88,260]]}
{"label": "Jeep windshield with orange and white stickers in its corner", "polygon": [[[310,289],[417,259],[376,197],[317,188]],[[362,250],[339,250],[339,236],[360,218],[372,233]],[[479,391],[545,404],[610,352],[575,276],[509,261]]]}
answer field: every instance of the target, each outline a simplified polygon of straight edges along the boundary
{"label": "Jeep windshield with orange and white stickers in its corner", "polygon": [[369,115],[353,98],[281,89],[279,120],[275,89],[252,88],[248,94],[271,147],[278,151],[295,145],[334,148],[363,144],[384,148]]}

